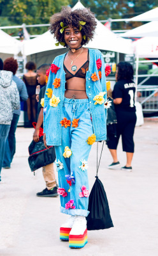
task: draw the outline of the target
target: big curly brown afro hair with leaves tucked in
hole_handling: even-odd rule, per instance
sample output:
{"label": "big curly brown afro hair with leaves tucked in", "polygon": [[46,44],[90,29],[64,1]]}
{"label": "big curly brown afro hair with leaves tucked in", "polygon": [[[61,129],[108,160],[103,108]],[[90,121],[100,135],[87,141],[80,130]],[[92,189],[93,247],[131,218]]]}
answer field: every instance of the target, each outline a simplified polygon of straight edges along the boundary
{"label": "big curly brown afro hair with leaves tucked in", "polygon": [[50,33],[54,34],[54,38],[56,38],[60,44],[64,45],[64,47],[68,47],[64,41],[64,33],[60,32],[62,29],[61,22],[64,27],[71,26],[72,28],[80,29],[82,33],[82,45],[88,44],[89,40],[92,40],[94,37],[97,22],[94,13],[90,12],[89,8],[72,11],[70,7],[64,6],[60,13],[55,13],[51,17]]}

